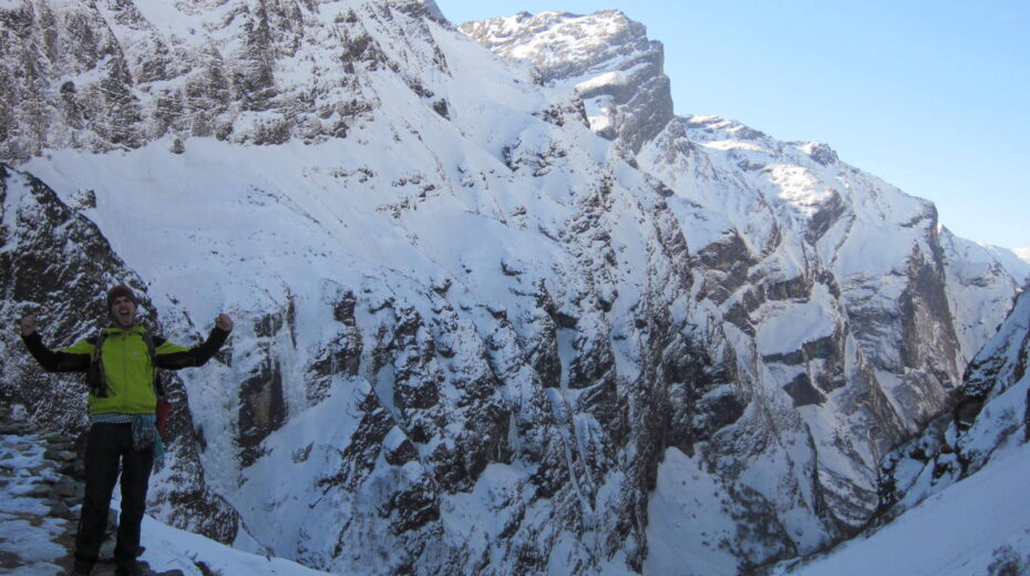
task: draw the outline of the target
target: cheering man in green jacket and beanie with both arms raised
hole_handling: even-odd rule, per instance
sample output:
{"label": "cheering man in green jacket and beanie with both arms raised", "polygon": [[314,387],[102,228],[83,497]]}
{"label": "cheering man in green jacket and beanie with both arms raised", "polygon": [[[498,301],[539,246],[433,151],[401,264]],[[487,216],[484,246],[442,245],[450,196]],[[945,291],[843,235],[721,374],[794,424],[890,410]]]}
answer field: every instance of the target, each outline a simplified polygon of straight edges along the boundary
{"label": "cheering man in green jacket and beanie with both arms raised", "polygon": [[119,285],[107,292],[107,310],[114,326],[94,339],[52,351],[35,331],[35,317],[21,318],[25,347],[50,372],[89,372],[90,435],[86,443],[85,496],[75,537],[73,575],[93,569],[104,539],[111,493],[122,467],[122,514],[115,547],[116,574],[138,574],[136,555],[140,526],[146,506],[146,488],[161,438],[155,426],[157,369],[178,370],[206,363],[222,348],[233,320],[218,315],[207,340],[183,348],[151,336],[136,322],[136,298]]}

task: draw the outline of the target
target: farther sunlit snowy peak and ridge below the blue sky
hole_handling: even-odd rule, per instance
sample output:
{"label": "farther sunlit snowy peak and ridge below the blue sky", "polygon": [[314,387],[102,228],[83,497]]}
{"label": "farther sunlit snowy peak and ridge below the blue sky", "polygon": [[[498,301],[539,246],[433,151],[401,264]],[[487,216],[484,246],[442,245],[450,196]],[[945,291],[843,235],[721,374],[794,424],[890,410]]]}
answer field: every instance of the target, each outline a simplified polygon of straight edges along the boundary
{"label": "farther sunlit snowy peak and ridge below the blue sky", "polygon": [[[952,404],[965,362],[1026,269],[1013,274],[946,230],[941,238],[933,205],[848,166],[825,144],[780,142],[719,117],[669,119],[661,105],[612,105],[610,94],[646,101],[665,80],[660,59],[640,65],[660,47],[641,42],[642,29],[621,14],[518,14],[461,30],[533,62],[545,85],[607,114],[591,115],[591,128],[618,133],[666,191],[697,255],[698,300],[745,335],[734,353],[753,364],[737,378],[750,372],[791,398],[800,435],[818,454],[817,500],[831,524],[843,533],[861,525],[876,505],[879,455]],[[658,130],[648,124],[656,117]],[[779,428],[760,425],[760,435]],[[742,460],[731,456],[741,454],[733,443],[704,448],[712,462]]]}

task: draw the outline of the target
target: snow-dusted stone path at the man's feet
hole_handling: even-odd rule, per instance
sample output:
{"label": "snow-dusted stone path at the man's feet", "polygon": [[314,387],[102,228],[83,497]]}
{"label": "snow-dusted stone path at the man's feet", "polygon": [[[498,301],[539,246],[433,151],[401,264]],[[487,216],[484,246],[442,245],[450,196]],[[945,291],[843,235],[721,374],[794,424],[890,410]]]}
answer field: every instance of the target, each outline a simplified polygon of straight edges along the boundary
{"label": "snow-dusted stone path at the man's feet", "polygon": [[[74,444],[29,424],[17,408],[0,405],[0,574],[54,576],[71,567],[83,493]],[[116,522],[112,512],[109,535]],[[113,547],[109,538],[95,576],[114,574]],[[141,567],[144,575],[182,576]]]}

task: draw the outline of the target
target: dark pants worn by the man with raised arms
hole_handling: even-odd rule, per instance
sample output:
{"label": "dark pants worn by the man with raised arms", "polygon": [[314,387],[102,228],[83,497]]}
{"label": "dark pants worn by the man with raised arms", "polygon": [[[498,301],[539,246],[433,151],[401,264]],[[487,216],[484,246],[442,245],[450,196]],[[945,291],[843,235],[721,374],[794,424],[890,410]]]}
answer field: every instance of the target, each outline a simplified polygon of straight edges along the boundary
{"label": "dark pants worn by the man with raised arms", "polygon": [[114,548],[120,565],[135,563],[140,548],[140,525],[146,508],[146,484],[154,464],[154,451],[135,450],[132,424],[93,424],[86,443],[85,497],[75,536],[75,559],[96,562],[107,528],[111,493],[122,467],[122,516]]}

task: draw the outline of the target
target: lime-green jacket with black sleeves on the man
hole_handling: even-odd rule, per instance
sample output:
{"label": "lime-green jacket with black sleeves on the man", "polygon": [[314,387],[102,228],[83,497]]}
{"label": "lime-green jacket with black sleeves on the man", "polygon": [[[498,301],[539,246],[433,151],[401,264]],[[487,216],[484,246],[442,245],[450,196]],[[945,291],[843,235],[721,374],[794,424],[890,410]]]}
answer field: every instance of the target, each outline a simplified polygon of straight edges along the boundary
{"label": "lime-green jacket with black sleeves on the man", "polygon": [[[101,361],[107,394],[97,397],[90,393],[86,402],[90,415],[96,414],[153,414],[157,407],[154,390],[154,376],[158,368],[178,370],[203,366],[222,348],[228,332],[219,328],[212,330],[207,340],[194,348],[168,342],[164,338],[153,337],[154,353],[157,366],[151,362],[142,325],[127,330],[105,328]],[[25,346],[40,364],[51,372],[84,372],[96,349],[96,340],[83,339],[63,350],[53,352],[48,349],[39,333],[23,337]]]}

